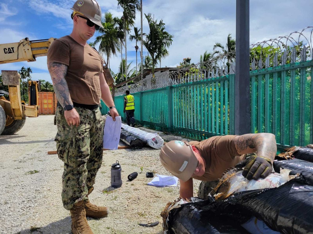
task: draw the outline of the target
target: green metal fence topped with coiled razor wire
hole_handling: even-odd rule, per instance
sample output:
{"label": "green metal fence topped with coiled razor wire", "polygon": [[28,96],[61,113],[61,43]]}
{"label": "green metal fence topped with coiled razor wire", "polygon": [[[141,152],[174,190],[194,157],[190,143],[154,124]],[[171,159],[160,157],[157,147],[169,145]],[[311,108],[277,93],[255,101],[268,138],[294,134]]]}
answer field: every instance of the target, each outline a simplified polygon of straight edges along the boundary
{"label": "green metal fence topped with coiled razor wire", "polygon": [[[313,143],[313,61],[250,72],[251,133],[275,134],[281,148]],[[227,75],[137,92],[135,119],[192,139],[234,134],[234,79]],[[124,96],[115,97],[122,118]]]}

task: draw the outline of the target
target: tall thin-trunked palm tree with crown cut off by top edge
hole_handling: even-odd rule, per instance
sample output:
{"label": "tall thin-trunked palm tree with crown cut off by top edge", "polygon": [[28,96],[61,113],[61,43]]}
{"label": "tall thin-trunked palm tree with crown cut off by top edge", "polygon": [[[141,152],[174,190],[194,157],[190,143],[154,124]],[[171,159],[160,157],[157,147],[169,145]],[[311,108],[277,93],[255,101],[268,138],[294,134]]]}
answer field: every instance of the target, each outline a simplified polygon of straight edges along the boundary
{"label": "tall thin-trunked palm tree with crown cut off by top edge", "polygon": [[[134,26],[136,19],[136,10],[140,10],[140,3],[138,0],[117,0],[118,8],[123,8],[123,21],[124,21],[124,33],[125,33],[125,61],[127,64],[127,38],[126,32],[129,30],[129,27]],[[125,67],[127,74],[127,66]],[[127,75],[126,75],[127,80]]]}

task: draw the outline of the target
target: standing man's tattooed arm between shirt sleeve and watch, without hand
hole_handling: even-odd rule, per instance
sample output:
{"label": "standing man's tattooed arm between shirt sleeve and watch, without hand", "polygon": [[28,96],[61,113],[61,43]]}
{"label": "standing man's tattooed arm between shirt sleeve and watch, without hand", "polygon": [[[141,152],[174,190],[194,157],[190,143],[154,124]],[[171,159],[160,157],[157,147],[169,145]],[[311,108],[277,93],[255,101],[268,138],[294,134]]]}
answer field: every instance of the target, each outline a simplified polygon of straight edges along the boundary
{"label": "standing man's tattooed arm between shirt sleeve and watch, without hand", "polygon": [[67,68],[68,67],[62,63],[48,63],[48,70],[53,83],[54,92],[58,98],[59,103],[63,107],[66,105],[73,105],[71,96],[69,95],[69,86],[65,80]]}

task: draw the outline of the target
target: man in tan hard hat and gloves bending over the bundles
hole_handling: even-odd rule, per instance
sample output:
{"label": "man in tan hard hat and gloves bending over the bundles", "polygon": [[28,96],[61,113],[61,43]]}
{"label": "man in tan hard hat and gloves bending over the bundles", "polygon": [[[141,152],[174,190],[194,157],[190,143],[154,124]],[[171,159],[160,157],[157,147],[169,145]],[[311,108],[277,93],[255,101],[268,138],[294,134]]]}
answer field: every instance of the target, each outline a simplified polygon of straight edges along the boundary
{"label": "man in tan hard hat and gloves bending over the bundles", "polygon": [[[241,136],[214,136],[198,141],[170,141],[161,148],[160,159],[180,181],[180,197],[193,197],[193,180],[201,180],[198,197],[206,199],[210,182],[222,177],[234,167],[243,168],[248,180],[267,177],[273,169],[277,152],[275,135],[271,133],[244,134]],[[245,154],[256,153],[245,159]],[[240,164],[240,165],[239,165]]]}

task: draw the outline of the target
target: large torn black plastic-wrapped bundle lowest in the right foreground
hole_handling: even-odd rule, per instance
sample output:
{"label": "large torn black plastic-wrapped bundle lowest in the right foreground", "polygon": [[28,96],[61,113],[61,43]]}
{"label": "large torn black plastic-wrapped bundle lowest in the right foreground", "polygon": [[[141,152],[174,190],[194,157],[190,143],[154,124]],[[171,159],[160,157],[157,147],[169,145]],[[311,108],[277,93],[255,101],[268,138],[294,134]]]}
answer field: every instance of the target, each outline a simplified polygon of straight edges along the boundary
{"label": "large torn black plastic-wrapped bundle lowest in the right foreground", "polygon": [[170,212],[168,226],[187,230],[181,233],[245,233],[239,225],[251,217],[277,232],[313,233],[313,186],[293,179],[279,188],[237,193],[220,202],[187,203]]}

